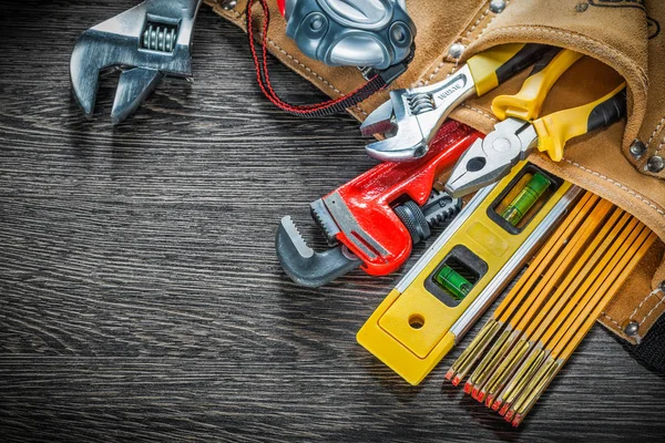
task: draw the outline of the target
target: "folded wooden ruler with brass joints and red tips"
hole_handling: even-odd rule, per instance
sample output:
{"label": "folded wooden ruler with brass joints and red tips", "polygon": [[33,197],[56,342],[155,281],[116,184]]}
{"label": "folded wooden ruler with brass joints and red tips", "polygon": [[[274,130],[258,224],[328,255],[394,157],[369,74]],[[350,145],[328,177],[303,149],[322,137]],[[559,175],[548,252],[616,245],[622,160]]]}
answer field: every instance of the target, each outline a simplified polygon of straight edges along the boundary
{"label": "folded wooden ruler with brass joints and red tips", "polygon": [[446,378],[518,426],[656,238],[586,193]]}

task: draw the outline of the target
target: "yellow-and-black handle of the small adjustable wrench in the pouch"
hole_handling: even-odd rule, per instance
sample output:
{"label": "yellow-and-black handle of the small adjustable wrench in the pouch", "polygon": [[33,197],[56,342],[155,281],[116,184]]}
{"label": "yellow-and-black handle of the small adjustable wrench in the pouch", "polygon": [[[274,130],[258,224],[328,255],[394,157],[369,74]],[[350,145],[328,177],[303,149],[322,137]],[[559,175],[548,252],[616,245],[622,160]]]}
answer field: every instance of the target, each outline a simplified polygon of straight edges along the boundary
{"label": "yellow-and-black handle of the small adjustable wrench in the pouch", "polygon": [[550,47],[535,43],[509,43],[485,50],[467,61],[479,96],[493,90],[539,60]]}

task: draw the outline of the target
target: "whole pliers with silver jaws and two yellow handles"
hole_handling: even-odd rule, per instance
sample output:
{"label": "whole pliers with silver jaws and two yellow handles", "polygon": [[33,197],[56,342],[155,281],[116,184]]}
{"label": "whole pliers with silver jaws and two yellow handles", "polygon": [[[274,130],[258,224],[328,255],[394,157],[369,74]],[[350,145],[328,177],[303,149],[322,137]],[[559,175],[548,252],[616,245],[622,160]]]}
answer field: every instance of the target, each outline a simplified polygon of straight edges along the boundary
{"label": "whole pliers with silver jaws and two yellow handles", "polygon": [[536,119],[554,83],[581,58],[577,52],[554,48],[533,66],[518,94],[492,101],[492,111],[502,122],[460,157],[446,184],[450,195],[461,197],[499,181],[535,148],[560,162],[569,140],[608,126],[626,114],[626,85],[622,83],[594,102]]}

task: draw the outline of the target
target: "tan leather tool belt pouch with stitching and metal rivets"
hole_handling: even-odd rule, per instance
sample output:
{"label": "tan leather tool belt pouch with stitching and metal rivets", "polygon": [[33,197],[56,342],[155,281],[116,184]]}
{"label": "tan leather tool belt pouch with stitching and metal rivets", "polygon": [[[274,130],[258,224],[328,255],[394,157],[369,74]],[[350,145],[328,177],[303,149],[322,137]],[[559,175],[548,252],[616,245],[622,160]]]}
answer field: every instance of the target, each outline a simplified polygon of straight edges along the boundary
{"label": "tan leather tool belt pouch with stitching and metal rivets", "polygon": [[[221,16],[245,28],[246,0],[205,0]],[[329,68],[303,55],[285,34],[272,2],[269,51],[316,84],[339,96],[364,83],[358,70]],[[497,2],[494,2],[497,3]],[[417,53],[391,87],[438,82],[473,54],[502,43],[535,42],[586,55],[552,89],[542,114],[589,103],[627,83],[628,117],[607,130],[570,142],[560,163],[536,154],[548,171],[611,200],[637,216],[665,240],[665,2],[644,0],[505,0],[494,12],[489,0],[407,0],[418,27]],[[260,22],[258,8],[253,20]],[[461,58],[451,55],[454,43]],[[451,117],[484,133],[497,120],[490,104],[498,94],[519,91],[526,73],[494,92],[469,100]],[[349,110],[365,119],[387,93]],[[658,243],[628,278],[600,321],[631,343],[638,343],[665,311],[665,247]],[[626,333],[627,332],[627,333]]]}

